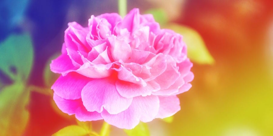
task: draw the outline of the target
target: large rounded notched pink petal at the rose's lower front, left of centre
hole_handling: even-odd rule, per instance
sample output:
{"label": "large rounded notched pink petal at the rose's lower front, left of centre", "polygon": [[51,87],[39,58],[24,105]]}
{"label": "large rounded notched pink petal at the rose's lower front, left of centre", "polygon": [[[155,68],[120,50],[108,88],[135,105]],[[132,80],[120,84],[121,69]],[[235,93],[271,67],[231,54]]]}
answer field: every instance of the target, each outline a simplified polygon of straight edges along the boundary
{"label": "large rounded notched pink petal at the rose's lower front, left of centre", "polygon": [[102,112],[103,108],[110,114],[117,114],[126,110],[133,98],[120,96],[111,79],[94,79],[86,84],[82,90],[83,105],[88,111]]}

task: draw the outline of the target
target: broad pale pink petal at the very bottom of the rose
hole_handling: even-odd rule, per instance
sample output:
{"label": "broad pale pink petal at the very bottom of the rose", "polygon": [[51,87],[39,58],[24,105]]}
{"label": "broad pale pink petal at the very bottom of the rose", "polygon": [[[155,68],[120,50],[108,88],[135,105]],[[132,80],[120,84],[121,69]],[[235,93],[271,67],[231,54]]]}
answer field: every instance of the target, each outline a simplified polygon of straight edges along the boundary
{"label": "broad pale pink petal at the very bottom of the rose", "polygon": [[130,107],[118,114],[109,114],[103,110],[104,121],[119,128],[132,129],[139,121],[152,121],[158,114],[159,99],[157,96],[134,97]]}

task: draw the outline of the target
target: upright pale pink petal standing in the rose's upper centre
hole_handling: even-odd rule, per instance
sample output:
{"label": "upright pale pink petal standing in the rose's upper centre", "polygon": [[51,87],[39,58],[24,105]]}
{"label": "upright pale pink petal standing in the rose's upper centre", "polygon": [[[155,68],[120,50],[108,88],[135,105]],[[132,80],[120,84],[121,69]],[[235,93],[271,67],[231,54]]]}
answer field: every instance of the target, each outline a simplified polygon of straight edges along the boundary
{"label": "upright pale pink petal standing in the rose's upper centre", "polygon": [[113,60],[122,60],[123,62],[126,62],[126,60],[128,60],[128,58],[131,56],[132,52],[130,45],[123,39],[119,39],[116,36],[108,37],[108,40],[110,43]]}

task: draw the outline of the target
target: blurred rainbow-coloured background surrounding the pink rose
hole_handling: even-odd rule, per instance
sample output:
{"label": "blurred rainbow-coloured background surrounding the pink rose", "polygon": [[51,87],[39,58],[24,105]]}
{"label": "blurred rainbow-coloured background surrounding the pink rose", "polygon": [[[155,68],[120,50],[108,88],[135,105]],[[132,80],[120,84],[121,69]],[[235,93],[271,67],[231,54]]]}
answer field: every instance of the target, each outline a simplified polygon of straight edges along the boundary
{"label": "blurred rainbow-coloured background surrounding the pink rose", "polygon": [[[198,32],[206,52],[213,58],[207,62],[193,61],[193,87],[178,95],[181,110],[171,123],[158,119],[148,123],[152,136],[273,135],[272,1],[127,2],[128,11],[133,8],[139,8],[142,14],[160,11],[156,14],[162,27],[175,23],[171,28],[179,31],[182,25]],[[3,136],[48,136],[76,124],[74,116],[62,114],[52,102],[50,86],[58,75],[49,71],[49,63],[61,51],[68,22],[87,26],[91,15],[106,12],[118,12],[116,0],[0,1]],[[25,41],[32,46],[24,52],[16,43],[27,44]],[[17,61],[20,65],[12,65]],[[14,75],[24,71],[20,69],[21,63],[29,67],[26,70],[29,72],[22,74],[19,85]],[[99,129],[101,122],[95,121],[93,127]],[[112,128],[111,135],[125,135],[122,130]]]}

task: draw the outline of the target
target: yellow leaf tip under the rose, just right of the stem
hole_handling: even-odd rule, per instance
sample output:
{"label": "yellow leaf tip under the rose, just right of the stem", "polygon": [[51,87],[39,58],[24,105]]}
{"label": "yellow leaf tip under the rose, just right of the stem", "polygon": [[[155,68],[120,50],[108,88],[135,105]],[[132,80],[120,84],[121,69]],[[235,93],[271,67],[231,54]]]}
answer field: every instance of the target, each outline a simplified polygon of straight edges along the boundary
{"label": "yellow leaf tip under the rose, just right of the stem", "polygon": [[133,129],[123,129],[128,136],[150,136],[150,131],[146,123],[140,122]]}

